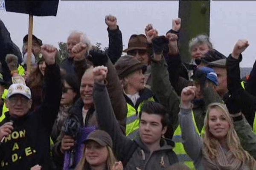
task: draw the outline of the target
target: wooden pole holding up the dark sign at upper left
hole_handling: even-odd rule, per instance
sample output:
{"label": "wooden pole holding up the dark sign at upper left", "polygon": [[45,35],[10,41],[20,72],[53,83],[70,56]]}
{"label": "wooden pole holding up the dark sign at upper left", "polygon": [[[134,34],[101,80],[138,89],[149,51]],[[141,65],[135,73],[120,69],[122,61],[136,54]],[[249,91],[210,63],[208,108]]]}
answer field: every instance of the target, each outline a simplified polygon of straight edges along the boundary
{"label": "wooden pole holding up the dark sign at upper left", "polygon": [[28,56],[27,56],[27,69],[26,71],[31,71],[31,54],[32,54],[32,34],[33,34],[33,15],[29,14],[29,36],[28,36]]}

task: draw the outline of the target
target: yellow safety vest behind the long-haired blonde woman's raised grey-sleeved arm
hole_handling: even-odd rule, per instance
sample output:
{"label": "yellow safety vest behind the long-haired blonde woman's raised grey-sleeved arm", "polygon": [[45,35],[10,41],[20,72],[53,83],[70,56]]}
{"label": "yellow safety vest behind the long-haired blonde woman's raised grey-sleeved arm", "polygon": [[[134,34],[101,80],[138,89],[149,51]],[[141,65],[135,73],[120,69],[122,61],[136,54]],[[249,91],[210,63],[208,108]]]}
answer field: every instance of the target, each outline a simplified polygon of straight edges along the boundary
{"label": "yellow safety vest behind the long-haired blonde woman's raised grey-sleeved arm", "polygon": [[[203,127],[201,130],[201,133],[199,133],[198,127],[195,123],[194,113],[192,111],[192,119],[195,125],[195,130],[198,132],[198,134],[201,136],[205,132],[205,128]],[[193,164],[192,159],[186,154],[186,151],[183,147],[182,138],[181,138],[181,129],[180,125],[178,125],[177,129],[175,130],[172,141],[175,142],[175,147],[172,149],[180,162],[183,162],[183,164],[186,164],[190,169],[195,170],[195,166]]]}

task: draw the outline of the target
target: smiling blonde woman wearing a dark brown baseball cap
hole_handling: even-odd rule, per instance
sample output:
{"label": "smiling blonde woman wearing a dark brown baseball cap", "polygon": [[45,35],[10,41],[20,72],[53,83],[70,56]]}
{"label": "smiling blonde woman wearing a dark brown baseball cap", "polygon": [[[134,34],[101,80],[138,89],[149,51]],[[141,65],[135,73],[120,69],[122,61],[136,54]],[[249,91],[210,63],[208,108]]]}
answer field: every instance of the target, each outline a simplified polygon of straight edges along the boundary
{"label": "smiling blonde woman wearing a dark brown baseball cap", "polygon": [[84,152],[76,170],[122,170],[112,151],[112,139],[104,130],[95,130],[84,141]]}

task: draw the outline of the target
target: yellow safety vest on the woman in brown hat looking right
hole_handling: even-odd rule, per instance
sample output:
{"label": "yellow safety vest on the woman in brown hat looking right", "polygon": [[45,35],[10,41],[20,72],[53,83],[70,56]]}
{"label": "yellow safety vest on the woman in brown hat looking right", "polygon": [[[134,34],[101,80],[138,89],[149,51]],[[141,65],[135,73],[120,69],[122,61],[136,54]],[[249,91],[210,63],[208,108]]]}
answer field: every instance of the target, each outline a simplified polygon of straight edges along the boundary
{"label": "yellow safety vest on the woman in brown hat looking right", "polygon": [[130,139],[134,139],[137,132],[139,131],[139,122],[140,117],[139,113],[141,107],[145,104],[145,102],[152,101],[154,102],[154,98],[150,97],[148,99],[143,100],[136,109],[127,102],[127,114],[126,114],[126,126],[125,126],[125,135]]}

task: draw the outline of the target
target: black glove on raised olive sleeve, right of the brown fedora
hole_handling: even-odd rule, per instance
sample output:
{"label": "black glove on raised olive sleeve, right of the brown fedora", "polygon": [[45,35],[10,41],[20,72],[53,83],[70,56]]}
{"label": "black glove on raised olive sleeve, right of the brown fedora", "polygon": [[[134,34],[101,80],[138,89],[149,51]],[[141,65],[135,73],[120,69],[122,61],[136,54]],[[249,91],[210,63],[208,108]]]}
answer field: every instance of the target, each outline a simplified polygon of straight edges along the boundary
{"label": "black glove on raised olive sleeve, right of the brown fedora", "polygon": [[152,48],[155,54],[162,54],[163,49],[168,45],[168,39],[165,36],[155,37],[152,39]]}

